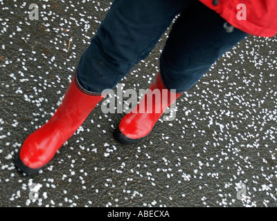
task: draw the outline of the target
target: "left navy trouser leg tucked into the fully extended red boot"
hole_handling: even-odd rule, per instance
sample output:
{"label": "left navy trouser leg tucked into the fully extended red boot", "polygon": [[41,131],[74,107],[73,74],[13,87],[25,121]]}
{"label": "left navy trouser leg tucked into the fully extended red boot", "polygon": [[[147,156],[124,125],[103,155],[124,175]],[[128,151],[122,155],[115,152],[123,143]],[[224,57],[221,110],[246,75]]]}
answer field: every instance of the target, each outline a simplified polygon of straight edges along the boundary
{"label": "left navy trouser leg tucked into the fully extended red boot", "polygon": [[145,59],[168,26],[191,0],[116,0],[83,53],[78,80],[100,93],[116,86]]}

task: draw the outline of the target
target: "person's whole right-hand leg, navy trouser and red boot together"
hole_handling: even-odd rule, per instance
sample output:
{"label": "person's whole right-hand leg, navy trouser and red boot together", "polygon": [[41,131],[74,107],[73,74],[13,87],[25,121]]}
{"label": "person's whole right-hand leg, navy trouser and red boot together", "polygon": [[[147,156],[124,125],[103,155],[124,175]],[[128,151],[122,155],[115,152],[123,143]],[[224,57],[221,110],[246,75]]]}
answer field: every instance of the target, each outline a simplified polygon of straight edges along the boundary
{"label": "person's whole right-hand leg, navy trouser and red boot together", "polygon": [[[154,127],[162,113],[152,111],[165,111],[172,101],[168,97],[174,95],[175,99],[182,92],[191,88],[204,75],[211,65],[229,50],[238,41],[247,36],[246,33],[235,29],[226,32],[224,19],[199,1],[193,0],[184,12],[181,13],[172,27],[166,46],[160,57],[160,72],[150,90],[160,90],[161,99],[152,97],[148,92],[141,100],[134,112],[128,113],[120,121],[114,131],[116,139],[123,144],[132,144],[143,140]],[[168,90],[163,97],[162,90]],[[170,93],[174,89],[175,93]],[[151,100],[151,112],[139,113],[141,106]],[[143,110],[148,110],[146,107]]]}

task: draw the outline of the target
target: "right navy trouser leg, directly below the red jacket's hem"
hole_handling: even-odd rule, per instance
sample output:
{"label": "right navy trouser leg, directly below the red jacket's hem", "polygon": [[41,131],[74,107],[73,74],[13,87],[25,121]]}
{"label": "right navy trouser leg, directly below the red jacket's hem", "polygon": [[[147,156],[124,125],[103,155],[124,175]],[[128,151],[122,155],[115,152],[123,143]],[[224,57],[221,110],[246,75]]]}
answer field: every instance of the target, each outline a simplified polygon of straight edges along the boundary
{"label": "right navy trouser leg, directly below the red jacket's hem", "polygon": [[181,13],[160,57],[161,77],[168,89],[188,90],[224,52],[247,37],[237,28],[226,32],[225,22],[199,1]]}

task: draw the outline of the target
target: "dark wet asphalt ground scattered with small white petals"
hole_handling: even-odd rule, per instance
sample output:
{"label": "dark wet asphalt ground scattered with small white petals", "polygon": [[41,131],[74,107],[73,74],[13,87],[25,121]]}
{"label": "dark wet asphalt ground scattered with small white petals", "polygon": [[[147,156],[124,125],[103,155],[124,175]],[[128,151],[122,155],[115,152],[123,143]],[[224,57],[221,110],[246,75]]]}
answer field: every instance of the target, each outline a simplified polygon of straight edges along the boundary
{"label": "dark wet asphalt ground scattered with small white petals", "polygon": [[[0,206],[277,206],[276,37],[226,52],[143,142],[117,142],[123,113],[99,104],[44,171],[16,171],[22,142],[60,104],[111,4],[39,1],[31,21],[31,3],[0,0]],[[123,90],[150,86],[167,35]]]}

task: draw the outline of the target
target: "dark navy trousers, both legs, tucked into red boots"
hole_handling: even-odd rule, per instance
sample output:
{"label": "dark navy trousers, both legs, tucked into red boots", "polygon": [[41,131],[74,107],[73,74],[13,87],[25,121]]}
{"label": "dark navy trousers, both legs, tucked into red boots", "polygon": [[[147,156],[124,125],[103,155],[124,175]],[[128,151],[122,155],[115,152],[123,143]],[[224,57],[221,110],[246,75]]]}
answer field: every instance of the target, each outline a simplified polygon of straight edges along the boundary
{"label": "dark navy trousers, both legs, tucked into red boots", "polygon": [[224,19],[197,0],[115,0],[78,64],[78,81],[101,93],[145,59],[179,15],[159,59],[166,88],[191,88],[247,33],[226,32]]}

